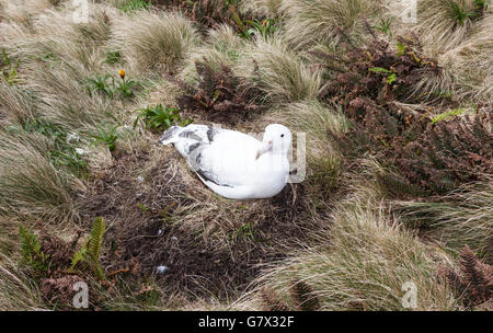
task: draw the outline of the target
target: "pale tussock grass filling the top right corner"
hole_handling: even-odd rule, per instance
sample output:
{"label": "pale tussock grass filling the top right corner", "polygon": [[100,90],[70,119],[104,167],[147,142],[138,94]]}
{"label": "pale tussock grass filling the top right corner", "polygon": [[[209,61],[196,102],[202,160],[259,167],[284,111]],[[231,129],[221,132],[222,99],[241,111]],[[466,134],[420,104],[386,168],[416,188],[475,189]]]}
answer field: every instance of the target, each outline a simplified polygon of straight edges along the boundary
{"label": "pale tussock grass filling the top right corner", "polygon": [[434,100],[439,95],[450,95],[455,100],[472,100],[489,102],[492,96],[492,62],[493,38],[491,5],[482,16],[463,20],[460,24],[456,18],[452,3],[459,4],[466,12],[475,8],[471,0],[433,0],[417,2],[417,22],[404,24],[401,22],[400,4],[387,5],[386,15],[393,18],[394,35],[410,31],[420,36],[424,53],[436,60],[443,68],[439,76],[427,72],[416,83],[415,95],[428,96]]}

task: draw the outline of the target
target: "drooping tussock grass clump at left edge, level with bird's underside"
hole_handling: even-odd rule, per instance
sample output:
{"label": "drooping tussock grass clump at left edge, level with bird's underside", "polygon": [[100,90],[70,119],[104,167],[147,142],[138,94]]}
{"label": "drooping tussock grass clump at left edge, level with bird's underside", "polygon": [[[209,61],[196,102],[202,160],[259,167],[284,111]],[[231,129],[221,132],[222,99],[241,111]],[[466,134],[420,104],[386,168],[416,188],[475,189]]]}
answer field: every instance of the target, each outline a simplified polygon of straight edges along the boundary
{"label": "drooping tussock grass clump at left edge, level with bird's underside", "polygon": [[[30,140],[36,141],[38,149]],[[49,142],[39,135],[27,134],[18,138],[2,134],[0,142],[0,214],[76,219],[71,192],[84,186],[55,169],[48,158]]]}

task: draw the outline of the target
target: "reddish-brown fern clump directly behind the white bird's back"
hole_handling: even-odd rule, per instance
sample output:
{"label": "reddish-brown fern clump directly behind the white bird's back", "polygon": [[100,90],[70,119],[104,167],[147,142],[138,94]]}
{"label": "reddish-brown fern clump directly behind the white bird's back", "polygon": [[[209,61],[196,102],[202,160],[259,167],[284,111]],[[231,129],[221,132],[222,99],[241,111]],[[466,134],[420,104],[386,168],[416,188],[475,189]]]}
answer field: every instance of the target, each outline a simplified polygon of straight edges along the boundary
{"label": "reddish-brown fern clump directly behind the white bird's back", "polygon": [[234,125],[263,108],[255,102],[260,91],[234,76],[229,67],[214,69],[206,58],[196,61],[195,67],[200,78],[196,89],[179,82],[186,91],[177,97],[181,110],[198,112],[211,122]]}

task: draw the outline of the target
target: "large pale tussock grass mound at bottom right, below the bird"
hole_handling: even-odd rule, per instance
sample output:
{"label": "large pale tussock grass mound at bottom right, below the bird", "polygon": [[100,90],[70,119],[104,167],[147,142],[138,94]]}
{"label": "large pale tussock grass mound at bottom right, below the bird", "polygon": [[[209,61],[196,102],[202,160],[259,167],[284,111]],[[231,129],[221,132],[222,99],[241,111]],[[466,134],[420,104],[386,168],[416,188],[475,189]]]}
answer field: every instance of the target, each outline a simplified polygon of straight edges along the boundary
{"label": "large pale tussock grass mound at bottom right, below the bird", "polygon": [[402,285],[412,282],[417,288],[416,310],[457,310],[451,292],[436,276],[432,253],[382,206],[369,209],[365,203],[346,202],[333,213],[330,245],[298,253],[267,271],[259,283],[289,301],[291,282],[302,280],[314,289],[321,310],[402,311]]}

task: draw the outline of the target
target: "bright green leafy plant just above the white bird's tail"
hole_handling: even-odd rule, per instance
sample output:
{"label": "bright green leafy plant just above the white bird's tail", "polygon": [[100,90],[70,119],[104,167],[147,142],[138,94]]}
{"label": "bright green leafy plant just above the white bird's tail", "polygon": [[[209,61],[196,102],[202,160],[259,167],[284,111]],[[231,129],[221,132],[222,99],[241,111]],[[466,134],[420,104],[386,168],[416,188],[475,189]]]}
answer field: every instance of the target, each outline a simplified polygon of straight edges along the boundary
{"label": "bright green leafy plant just above the white bird's tail", "polygon": [[139,120],[144,127],[150,130],[168,129],[172,125],[186,126],[192,119],[182,119],[180,111],[175,107],[165,107],[162,104],[139,110],[140,113],[134,122],[134,128]]}

